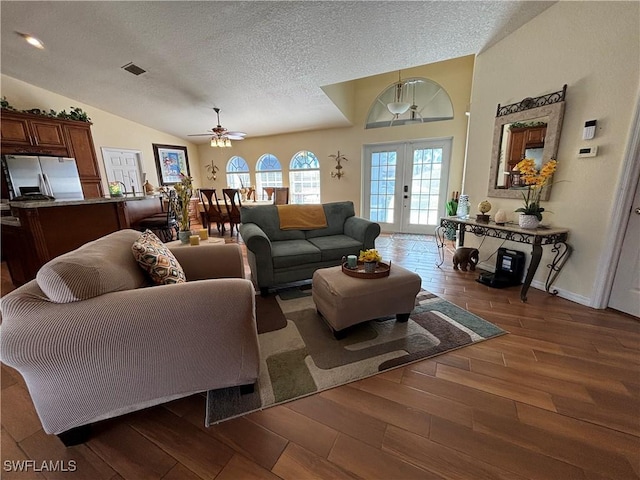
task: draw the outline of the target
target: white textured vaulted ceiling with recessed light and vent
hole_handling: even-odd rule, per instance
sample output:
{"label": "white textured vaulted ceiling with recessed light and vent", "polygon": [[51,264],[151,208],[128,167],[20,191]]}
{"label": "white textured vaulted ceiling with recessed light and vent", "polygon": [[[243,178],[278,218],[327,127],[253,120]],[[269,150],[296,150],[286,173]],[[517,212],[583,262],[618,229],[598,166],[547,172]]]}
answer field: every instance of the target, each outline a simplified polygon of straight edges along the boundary
{"label": "white textured vaulted ceiling with recessed light and vent", "polygon": [[0,67],[185,139],[214,106],[230,130],[270,135],[346,126],[322,86],[477,54],[553,3],[2,1]]}

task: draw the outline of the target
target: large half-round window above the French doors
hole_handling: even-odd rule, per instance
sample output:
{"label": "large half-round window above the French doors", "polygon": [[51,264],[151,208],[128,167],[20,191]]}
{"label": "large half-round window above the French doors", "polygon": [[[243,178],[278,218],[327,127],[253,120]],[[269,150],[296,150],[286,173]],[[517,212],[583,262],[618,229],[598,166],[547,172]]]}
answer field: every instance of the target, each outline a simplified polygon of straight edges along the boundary
{"label": "large half-round window above the French doors", "polygon": [[378,95],[369,109],[365,128],[398,127],[452,118],[451,98],[440,84],[428,78],[405,78]]}

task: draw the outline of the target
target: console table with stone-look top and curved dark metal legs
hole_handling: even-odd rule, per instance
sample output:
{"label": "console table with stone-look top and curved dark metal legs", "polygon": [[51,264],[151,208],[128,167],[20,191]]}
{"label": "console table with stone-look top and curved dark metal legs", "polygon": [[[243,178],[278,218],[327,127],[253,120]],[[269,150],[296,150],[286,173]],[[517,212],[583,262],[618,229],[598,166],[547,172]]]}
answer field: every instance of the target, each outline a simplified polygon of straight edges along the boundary
{"label": "console table with stone-look top and curved dark metal legs", "polygon": [[531,262],[527,269],[527,275],[522,290],[520,291],[520,300],[527,301],[527,291],[531,285],[531,280],[538,269],[540,259],[542,258],[542,245],[553,245],[551,251],[555,253],[553,261],[547,265],[549,275],[545,283],[545,290],[551,295],[557,295],[558,291],[551,291],[551,285],[562,270],[562,267],[571,256],[573,249],[567,243],[569,230],[566,228],[548,228],[538,227],[536,229],[524,229],[515,224],[498,225],[494,222],[478,222],[471,218],[443,217],[440,219],[440,226],[436,227],[436,238],[438,245],[438,253],[440,261],[437,264],[440,267],[444,263],[444,241],[447,231],[456,231],[458,235],[459,246],[464,245],[465,232],[473,233],[478,237],[501,238],[518,243],[527,243],[531,245]]}

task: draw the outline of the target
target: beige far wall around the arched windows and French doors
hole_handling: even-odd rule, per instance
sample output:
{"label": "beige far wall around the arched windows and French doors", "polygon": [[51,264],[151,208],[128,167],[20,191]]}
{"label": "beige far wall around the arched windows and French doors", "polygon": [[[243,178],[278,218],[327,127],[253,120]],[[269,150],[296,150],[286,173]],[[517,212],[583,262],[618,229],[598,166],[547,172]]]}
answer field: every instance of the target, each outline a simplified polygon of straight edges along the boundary
{"label": "beige far wall around the arched windows and French doors", "polygon": [[[402,71],[403,78],[425,77],[439,83],[451,97],[454,109],[453,120],[365,130],[364,124],[371,104],[384,89],[398,80],[398,74],[392,72],[346,82],[326,90],[340,99],[341,108],[353,120],[352,127],[268,137],[248,137],[241,142],[234,142],[230,149],[215,149],[208,145],[200,145],[202,171],[204,172],[204,165],[211,164],[212,161],[220,168],[216,181],[203,177],[204,185],[215,188],[226,186],[224,170],[229,158],[233,155],[239,155],[247,161],[252,179],[255,178],[256,161],[265,153],[271,153],[280,160],[283,167],[283,181],[288,185],[291,157],[300,150],[309,150],[320,161],[321,200],[323,202],[353,200],[356,211],[359,212],[363,145],[453,137],[448,190],[460,190],[467,134],[468,117],[465,115],[465,110],[471,97],[473,61],[473,56],[466,56]],[[353,98],[349,98],[350,94]],[[348,158],[348,161],[343,163],[345,176],[340,180],[331,178],[335,162],[329,158],[329,155],[336,154],[338,150]]]}

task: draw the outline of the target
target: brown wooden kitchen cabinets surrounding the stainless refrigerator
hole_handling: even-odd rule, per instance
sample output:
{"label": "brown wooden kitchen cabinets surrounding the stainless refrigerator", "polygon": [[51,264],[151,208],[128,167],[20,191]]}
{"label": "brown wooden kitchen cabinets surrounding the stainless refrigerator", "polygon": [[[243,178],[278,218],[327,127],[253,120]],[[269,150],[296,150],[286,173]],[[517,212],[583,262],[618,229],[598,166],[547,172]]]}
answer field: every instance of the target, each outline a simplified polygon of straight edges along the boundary
{"label": "brown wooden kitchen cabinets surrounding the stainless refrigerator", "polygon": [[[91,123],[3,110],[0,132],[3,155],[73,157],[85,198],[103,196]],[[0,187],[2,198],[9,198],[5,172],[2,172]]]}

